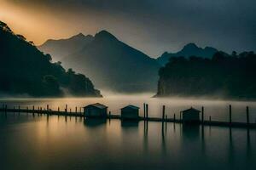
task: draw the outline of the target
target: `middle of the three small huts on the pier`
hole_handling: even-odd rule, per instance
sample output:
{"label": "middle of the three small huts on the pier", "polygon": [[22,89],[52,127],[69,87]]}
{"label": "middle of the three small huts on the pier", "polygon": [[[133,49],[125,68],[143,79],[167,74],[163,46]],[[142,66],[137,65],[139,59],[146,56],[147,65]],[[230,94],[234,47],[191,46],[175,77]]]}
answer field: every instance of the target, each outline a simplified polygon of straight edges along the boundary
{"label": "middle of the three small huts on the pier", "polygon": [[139,109],[140,108],[135,105],[127,105],[121,109],[121,118],[136,120],[139,118]]}

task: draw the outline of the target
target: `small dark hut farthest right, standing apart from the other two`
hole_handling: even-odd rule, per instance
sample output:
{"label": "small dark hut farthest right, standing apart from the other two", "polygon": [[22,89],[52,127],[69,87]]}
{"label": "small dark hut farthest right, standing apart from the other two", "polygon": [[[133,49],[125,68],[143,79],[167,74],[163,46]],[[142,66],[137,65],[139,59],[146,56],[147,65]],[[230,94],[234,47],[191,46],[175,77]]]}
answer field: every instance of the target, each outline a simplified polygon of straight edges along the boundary
{"label": "small dark hut farthest right, standing apart from the other two", "polygon": [[183,122],[198,123],[200,122],[200,112],[195,108],[191,107],[188,110],[181,111],[183,114]]}

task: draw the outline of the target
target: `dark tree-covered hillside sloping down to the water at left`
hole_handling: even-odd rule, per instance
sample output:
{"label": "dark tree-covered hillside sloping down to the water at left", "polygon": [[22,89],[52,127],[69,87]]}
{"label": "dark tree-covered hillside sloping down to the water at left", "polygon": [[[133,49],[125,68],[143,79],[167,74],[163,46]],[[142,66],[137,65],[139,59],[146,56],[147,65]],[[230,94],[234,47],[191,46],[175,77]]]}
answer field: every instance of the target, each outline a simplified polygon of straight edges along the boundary
{"label": "dark tree-covered hillside sloping down to the water at left", "polygon": [[36,97],[101,96],[89,78],[65,71],[60,62],[52,63],[26,37],[16,35],[0,21],[0,94],[26,94]]}

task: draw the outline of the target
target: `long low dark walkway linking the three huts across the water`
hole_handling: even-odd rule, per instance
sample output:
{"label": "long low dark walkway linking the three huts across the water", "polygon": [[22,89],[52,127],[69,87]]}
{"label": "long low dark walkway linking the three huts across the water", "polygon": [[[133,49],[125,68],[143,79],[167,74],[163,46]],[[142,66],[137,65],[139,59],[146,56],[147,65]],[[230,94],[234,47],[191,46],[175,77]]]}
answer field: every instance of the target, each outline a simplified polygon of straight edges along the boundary
{"label": "long low dark walkway linking the three huts across the water", "polygon": [[[51,111],[49,108],[47,108],[47,110],[42,110],[42,108],[38,108],[36,110],[34,108],[34,106],[33,106],[32,109],[28,109],[28,107],[26,109],[20,109],[20,107],[18,109],[16,109],[16,108],[9,109],[9,108],[7,108],[7,105],[5,105],[3,108],[0,108],[0,112],[2,112],[3,114],[7,114],[7,112],[30,113],[33,116],[35,114],[38,114],[38,115],[44,114],[44,115],[47,115],[47,116],[78,116],[78,117],[84,117],[84,114],[81,111],[77,111],[77,108],[76,108],[75,112],[72,112],[72,111],[67,111],[67,109],[65,111],[60,111],[59,108],[58,108],[58,111]],[[210,116],[210,120],[204,120],[203,115],[204,115],[204,113],[203,113],[203,108],[202,108],[202,118],[201,118],[201,121],[198,122],[202,126],[256,128],[256,123],[231,122],[231,119],[230,119],[230,122],[212,121],[211,116]],[[119,119],[119,120],[121,120],[120,115],[113,115],[111,113],[108,114],[107,118],[108,119]],[[183,120],[182,120],[181,116],[180,116],[180,119],[176,119],[175,115],[174,115],[173,118],[167,118],[167,116],[165,116],[165,109],[163,109],[163,116],[162,117],[149,117],[147,108],[146,108],[146,112],[144,111],[144,116],[139,116],[135,121],[162,122],[162,123],[164,123],[164,122],[183,123]]]}

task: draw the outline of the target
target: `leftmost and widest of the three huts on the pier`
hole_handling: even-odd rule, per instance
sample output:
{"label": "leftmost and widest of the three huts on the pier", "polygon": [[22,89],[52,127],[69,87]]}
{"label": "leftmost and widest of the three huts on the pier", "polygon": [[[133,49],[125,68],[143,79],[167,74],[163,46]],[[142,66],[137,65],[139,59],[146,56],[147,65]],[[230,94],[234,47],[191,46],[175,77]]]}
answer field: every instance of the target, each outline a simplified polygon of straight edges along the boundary
{"label": "leftmost and widest of the three huts on the pier", "polygon": [[100,103],[86,105],[84,107],[84,116],[106,118],[108,116],[108,106]]}

